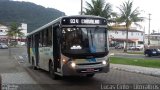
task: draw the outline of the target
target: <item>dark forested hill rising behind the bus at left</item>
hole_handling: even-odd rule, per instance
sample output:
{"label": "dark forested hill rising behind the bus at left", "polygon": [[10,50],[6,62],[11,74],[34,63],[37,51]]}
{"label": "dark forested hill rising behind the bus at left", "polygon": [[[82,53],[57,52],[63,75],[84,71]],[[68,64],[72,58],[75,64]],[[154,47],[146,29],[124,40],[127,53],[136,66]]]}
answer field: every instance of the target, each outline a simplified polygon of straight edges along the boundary
{"label": "dark forested hill rising behind the bus at left", "polygon": [[59,10],[30,2],[0,0],[0,23],[27,23],[28,32],[64,15]]}

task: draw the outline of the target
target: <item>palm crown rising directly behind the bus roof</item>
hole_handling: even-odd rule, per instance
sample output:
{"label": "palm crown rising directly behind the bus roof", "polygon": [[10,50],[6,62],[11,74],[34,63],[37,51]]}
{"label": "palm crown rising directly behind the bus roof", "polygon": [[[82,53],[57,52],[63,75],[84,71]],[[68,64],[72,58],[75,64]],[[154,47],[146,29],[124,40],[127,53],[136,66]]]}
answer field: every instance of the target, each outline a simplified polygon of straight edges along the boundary
{"label": "palm crown rising directly behind the bus roof", "polygon": [[111,19],[116,13],[112,12],[112,6],[110,3],[105,3],[105,0],[92,0],[91,3],[86,2],[87,8],[85,8],[85,15],[102,16],[106,19]]}

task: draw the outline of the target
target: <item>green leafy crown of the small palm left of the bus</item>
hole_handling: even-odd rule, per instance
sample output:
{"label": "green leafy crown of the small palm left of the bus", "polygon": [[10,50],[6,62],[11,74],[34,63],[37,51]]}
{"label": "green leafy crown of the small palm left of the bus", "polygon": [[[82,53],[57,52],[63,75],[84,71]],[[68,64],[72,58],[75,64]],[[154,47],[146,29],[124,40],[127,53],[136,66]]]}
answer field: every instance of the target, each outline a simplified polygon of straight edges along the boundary
{"label": "green leafy crown of the small palm left of the bus", "polygon": [[24,36],[24,33],[21,32],[22,29],[19,28],[20,25],[17,24],[17,23],[12,23],[9,27],[9,30],[7,31],[7,36],[10,38],[10,39],[17,39],[17,37],[22,37]]}

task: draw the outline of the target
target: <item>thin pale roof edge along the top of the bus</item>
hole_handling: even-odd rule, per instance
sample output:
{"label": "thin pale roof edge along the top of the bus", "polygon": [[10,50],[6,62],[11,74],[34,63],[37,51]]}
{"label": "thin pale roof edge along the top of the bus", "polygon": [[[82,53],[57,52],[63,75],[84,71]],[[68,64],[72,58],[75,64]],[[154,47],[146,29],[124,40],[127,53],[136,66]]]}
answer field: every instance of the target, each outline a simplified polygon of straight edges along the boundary
{"label": "thin pale roof edge along the top of the bus", "polygon": [[53,21],[51,21],[51,22],[49,22],[49,23],[47,23],[47,24],[45,24],[45,25],[43,25],[43,26],[41,26],[41,27],[39,27],[39,28],[37,28],[37,29],[35,29],[35,30],[33,30],[32,32],[28,33],[27,36],[30,36],[30,35],[32,35],[32,34],[34,34],[34,33],[37,33],[37,32],[39,32],[39,31],[47,28],[48,26],[51,26],[51,25],[56,24],[56,23],[58,23],[58,22],[60,23],[63,18],[74,18],[74,17],[75,17],[75,18],[82,17],[82,18],[101,18],[101,19],[106,19],[106,18],[104,18],[104,17],[94,16],[94,15],[62,16],[62,17],[59,17],[59,18],[57,18],[57,19],[55,19],[55,20],[53,20]]}

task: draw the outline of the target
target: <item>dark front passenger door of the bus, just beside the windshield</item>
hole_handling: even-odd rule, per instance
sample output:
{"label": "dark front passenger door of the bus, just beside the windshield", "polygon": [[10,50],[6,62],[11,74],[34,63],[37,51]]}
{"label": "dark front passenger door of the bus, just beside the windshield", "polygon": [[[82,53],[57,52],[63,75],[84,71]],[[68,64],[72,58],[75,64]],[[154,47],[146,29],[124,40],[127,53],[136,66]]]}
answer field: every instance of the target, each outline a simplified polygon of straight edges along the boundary
{"label": "dark front passenger door of the bus, just beside the windshield", "polygon": [[53,58],[54,58],[54,69],[57,71],[57,68],[61,68],[60,61],[60,38],[58,36],[59,26],[53,27]]}

